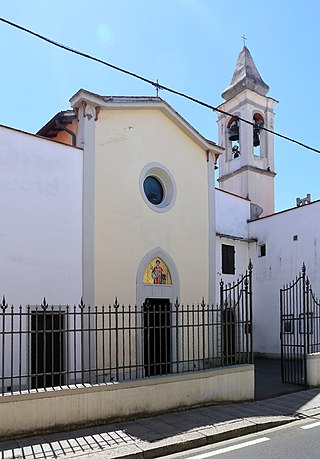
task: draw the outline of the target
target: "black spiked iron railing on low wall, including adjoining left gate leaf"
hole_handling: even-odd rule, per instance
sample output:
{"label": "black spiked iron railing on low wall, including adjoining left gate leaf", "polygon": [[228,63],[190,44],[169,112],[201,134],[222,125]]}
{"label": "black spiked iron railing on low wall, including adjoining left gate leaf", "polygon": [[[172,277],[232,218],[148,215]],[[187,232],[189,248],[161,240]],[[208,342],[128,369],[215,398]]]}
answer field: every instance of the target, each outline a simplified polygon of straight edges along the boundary
{"label": "black spiked iron railing on low wall, including adjoining left gate leaf", "polygon": [[234,284],[236,295],[221,286],[219,306],[150,299],[141,307],[14,307],[3,299],[0,395],[251,363],[248,279]]}

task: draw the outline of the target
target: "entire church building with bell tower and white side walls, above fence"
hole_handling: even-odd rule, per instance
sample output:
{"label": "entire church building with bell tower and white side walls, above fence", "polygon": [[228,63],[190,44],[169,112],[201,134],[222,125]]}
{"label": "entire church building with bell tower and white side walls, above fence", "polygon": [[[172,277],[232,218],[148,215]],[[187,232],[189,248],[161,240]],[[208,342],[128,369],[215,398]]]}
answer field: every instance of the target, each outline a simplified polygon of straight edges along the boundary
{"label": "entire church building with bell tower and white side walls, above fence", "polygon": [[278,357],[280,288],[303,262],[319,284],[320,202],[274,212],[268,90],[244,47],[217,144],[158,97],[85,90],[35,136],[1,127],[9,303],[216,304],[251,260],[254,351]]}

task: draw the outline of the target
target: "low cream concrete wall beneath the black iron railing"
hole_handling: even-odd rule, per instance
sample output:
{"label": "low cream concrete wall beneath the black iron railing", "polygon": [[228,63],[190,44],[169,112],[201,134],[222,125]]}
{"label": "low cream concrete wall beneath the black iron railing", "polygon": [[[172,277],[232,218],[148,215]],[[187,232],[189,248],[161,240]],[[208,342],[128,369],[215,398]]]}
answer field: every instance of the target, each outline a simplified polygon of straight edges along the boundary
{"label": "low cream concrete wall beneath the black iron railing", "polygon": [[254,366],[0,397],[0,438],[65,430],[195,405],[252,400]]}

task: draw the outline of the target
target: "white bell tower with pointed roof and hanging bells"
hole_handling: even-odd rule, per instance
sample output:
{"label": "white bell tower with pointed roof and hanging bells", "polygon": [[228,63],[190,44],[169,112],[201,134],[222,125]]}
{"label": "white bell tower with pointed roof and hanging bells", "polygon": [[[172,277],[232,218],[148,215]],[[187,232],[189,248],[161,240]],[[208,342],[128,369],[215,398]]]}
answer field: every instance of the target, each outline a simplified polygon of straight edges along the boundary
{"label": "white bell tower with pointed roof and hanging bells", "polygon": [[[267,97],[269,86],[262,80],[250,51],[241,50],[225,99],[218,108],[219,186],[251,201],[252,218],[274,213],[274,112],[275,99]],[[245,123],[239,118],[250,121]],[[261,209],[262,210],[261,210]]]}

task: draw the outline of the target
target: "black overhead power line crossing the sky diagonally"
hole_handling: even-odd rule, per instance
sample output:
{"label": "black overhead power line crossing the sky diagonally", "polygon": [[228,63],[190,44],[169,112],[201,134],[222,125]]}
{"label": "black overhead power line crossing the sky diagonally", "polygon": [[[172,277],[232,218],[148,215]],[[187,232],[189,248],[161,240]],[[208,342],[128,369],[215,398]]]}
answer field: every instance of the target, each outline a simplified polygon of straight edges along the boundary
{"label": "black overhead power line crossing the sky diagonally", "polygon": [[[151,84],[152,86],[154,86],[157,91],[159,91],[160,89],[164,90],[164,91],[167,91],[167,92],[170,92],[171,94],[175,94],[177,96],[180,96],[180,97],[183,97],[184,99],[187,99],[187,100],[190,100],[191,102],[194,102],[198,105],[201,105],[203,107],[206,107],[206,108],[209,108],[210,110],[213,110],[214,112],[217,112],[217,113],[222,113],[223,115],[227,115],[227,116],[234,116],[232,113],[229,113],[229,112],[226,112],[224,110],[221,110],[217,107],[214,107],[213,105],[210,105],[206,102],[203,102],[202,100],[199,100],[199,99],[196,99],[192,96],[189,96],[188,94],[185,94],[183,92],[180,92],[180,91],[177,91],[175,89],[172,89],[172,88],[169,88],[168,86],[164,86],[164,85],[161,85],[159,84],[158,80],[157,81],[153,81],[153,80],[149,80],[148,78],[145,78],[137,73],[134,73],[134,72],[130,72],[129,70],[126,70],[122,67],[118,67],[117,65],[114,65],[114,64],[110,64],[110,62],[107,62],[107,61],[104,61],[102,59],[99,59],[97,57],[94,57],[92,56],[91,54],[87,54],[87,53],[84,53],[82,51],[78,51],[76,49],[73,49],[71,48],[70,46],[66,46],[66,45],[63,45],[62,43],[58,43],[57,41],[54,41],[54,40],[51,40],[50,38],[48,37],[45,37],[44,35],[41,35],[37,32],[33,32],[32,30],[30,29],[27,29],[26,27],[23,27],[23,26],[20,26],[12,21],[8,21],[7,19],[4,19],[4,18],[1,18],[0,17],[0,21],[1,22],[4,22],[5,24],[8,24],[16,29],[19,29],[19,30],[22,30],[23,32],[26,32],[30,35],[33,35],[34,37],[37,37],[39,38],[40,40],[43,40],[43,41],[46,41],[47,43],[50,43],[51,45],[54,45],[56,46],[57,48],[61,48],[61,49],[64,49],[66,51],[69,51],[70,53],[73,53],[73,54],[77,54],[78,56],[82,56],[86,59],[89,59],[91,61],[94,61],[94,62],[98,62],[99,64],[102,64],[102,65],[105,65],[107,67],[110,67],[114,70],[117,70],[119,72],[122,72],[126,75],[129,75],[129,76],[132,76],[134,78],[137,78],[138,80],[141,80],[141,81],[144,81],[145,83],[148,83],[148,84]],[[252,121],[249,121],[249,120],[246,120],[244,118],[241,118],[241,117],[237,117],[237,119],[239,121],[242,121],[243,123],[247,123],[247,124],[250,124],[251,126],[254,126],[255,123],[253,123]],[[299,142],[298,140],[295,140],[295,139],[292,139],[291,137],[287,137],[283,134],[280,134],[279,132],[276,132],[276,131],[273,131],[271,129],[268,129],[264,126],[261,126],[259,127],[259,129],[262,129],[264,131],[267,131],[267,132],[271,132],[272,134],[276,135],[277,137],[280,137],[282,139],[285,139],[285,140],[288,140],[289,142],[293,142],[297,145],[300,145],[301,147],[303,148],[307,148],[308,150],[312,150],[312,151],[315,151],[316,153],[320,153],[320,150],[317,150],[316,148],[313,148],[313,147],[310,147],[309,145],[306,145],[302,142]]]}

